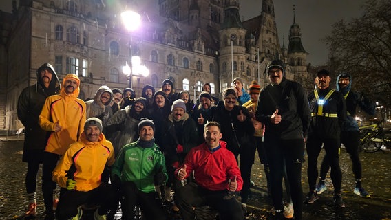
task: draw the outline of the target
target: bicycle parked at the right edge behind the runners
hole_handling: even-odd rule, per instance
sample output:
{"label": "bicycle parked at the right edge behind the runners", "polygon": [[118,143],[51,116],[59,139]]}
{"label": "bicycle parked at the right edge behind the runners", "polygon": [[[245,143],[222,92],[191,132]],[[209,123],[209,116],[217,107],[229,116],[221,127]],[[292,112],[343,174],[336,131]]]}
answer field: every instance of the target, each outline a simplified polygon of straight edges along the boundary
{"label": "bicycle parked at the right edge behind the runners", "polygon": [[391,129],[384,128],[382,124],[383,120],[379,120],[375,124],[359,127],[362,151],[374,153],[382,147],[386,149],[391,147]]}

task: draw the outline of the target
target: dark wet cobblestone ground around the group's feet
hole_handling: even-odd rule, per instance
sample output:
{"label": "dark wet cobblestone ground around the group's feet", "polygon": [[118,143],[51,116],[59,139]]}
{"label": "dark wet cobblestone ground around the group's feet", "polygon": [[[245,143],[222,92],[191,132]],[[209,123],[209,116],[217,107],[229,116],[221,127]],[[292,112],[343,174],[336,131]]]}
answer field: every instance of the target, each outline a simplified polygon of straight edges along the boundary
{"label": "dark wet cobblestone ground around the group's feet", "polygon": [[[23,219],[27,208],[25,199],[24,177],[26,164],[21,162],[23,142],[21,140],[0,139],[0,219]],[[371,194],[371,198],[361,198],[353,194],[354,177],[351,162],[346,151],[341,151],[341,169],[343,172],[342,197],[346,208],[334,208],[332,204],[332,184],[330,176],[326,181],[328,190],[313,205],[304,206],[303,219],[382,219],[391,220],[391,153],[361,153],[363,164],[363,186]],[[41,179],[41,171],[39,173]],[[271,209],[267,197],[266,180],[263,166],[259,159],[255,160],[251,179],[255,186],[251,188],[248,210],[251,219],[272,219],[268,210]],[[306,163],[303,166],[302,185],[304,194],[308,192]],[[37,184],[38,215],[43,219],[43,199],[41,182]],[[213,220],[215,213],[208,209],[197,210],[199,219]],[[87,214],[88,217],[88,214]],[[87,218],[84,218],[87,219]],[[120,214],[116,214],[120,219]]]}

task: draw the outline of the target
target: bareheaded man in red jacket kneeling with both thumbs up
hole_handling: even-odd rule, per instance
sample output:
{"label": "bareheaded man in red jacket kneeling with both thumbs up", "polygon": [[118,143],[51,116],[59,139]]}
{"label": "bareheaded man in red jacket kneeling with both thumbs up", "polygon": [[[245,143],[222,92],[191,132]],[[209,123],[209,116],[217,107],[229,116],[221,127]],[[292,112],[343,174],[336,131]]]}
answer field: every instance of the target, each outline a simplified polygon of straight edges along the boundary
{"label": "bareheaded man in red jacket kneeling with both thumbs up", "polygon": [[193,207],[199,206],[215,208],[222,220],[244,219],[242,206],[231,193],[242,189],[243,179],[235,156],[221,138],[218,122],[205,124],[205,142],[192,148],[182,167],[176,170],[180,180],[194,172],[195,182],[179,188],[174,195],[184,220],[195,219]]}

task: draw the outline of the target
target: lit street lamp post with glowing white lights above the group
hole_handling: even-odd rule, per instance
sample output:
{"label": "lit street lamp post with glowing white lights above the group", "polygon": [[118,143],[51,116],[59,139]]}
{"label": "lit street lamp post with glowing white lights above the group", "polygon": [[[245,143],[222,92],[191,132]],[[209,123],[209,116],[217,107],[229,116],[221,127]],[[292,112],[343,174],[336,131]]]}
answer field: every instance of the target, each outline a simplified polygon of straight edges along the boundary
{"label": "lit street lamp post with glowing white lights above the group", "polygon": [[132,63],[132,52],[131,52],[131,32],[136,30],[138,26],[140,25],[141,17],[140,14],[133,11],[125,11],[121,13],[121,18],[123,20],[123,23],[125,25],[125,28],[129,32],[129,54],[131,57],[131,60],[129,64],[126,62],[125,66],[123,67],[123,74],[125,74],[129,78],[129,87],[133,87],[133,63]]}

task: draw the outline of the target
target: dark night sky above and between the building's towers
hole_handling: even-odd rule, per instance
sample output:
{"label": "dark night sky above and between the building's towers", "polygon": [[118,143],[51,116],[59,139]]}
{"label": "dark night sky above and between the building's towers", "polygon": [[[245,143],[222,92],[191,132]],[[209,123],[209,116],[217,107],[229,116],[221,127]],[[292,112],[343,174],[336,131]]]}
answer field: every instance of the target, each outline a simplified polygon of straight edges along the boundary
{"label": "dark night sky above and between the building's towers", "polygon": [[[307,62],[312,65],[326,64],[328,49],[320,40],[330,34],[331,25],[341,19],[359,17],[362,13],[361,5],[366,0],[274,0],[275,20],[279,34],[279,43],[282,45],[283,36],[288,47],[288,34],[293,24],[293,5],[295,5],[296,23],[302,29],[302,43],[309,53]],[[138,1],[140,8],[150,7],[158,0]],[[146,7],[147,6],[147,7]],[[1,0],[0,10],[10,12],[12,0]],[[256,17],[262,9],[262,0],[241,0],[240,17],[247,20]]]}

